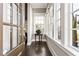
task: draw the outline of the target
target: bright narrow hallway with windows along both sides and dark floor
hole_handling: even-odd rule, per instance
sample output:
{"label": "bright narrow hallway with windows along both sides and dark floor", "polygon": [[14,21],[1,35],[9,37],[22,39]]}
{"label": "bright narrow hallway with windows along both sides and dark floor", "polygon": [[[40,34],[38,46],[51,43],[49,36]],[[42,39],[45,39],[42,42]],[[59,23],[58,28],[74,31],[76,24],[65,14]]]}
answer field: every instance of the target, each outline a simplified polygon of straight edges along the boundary
{"label": "bright narrow hallway with windows along both sides and dark floor", "polygon": [[0,56],[79,56],[79,4],[0,3]]}

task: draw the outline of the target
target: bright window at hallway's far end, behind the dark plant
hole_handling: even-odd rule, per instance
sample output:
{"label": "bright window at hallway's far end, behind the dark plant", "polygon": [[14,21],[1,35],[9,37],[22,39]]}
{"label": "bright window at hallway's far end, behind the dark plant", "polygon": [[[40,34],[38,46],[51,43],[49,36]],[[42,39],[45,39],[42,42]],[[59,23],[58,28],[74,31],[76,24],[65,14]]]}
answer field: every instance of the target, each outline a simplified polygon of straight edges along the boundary
{"label": "bright window at hallway's far end, behind the dark plant", "polygon": [[37,29],[40,29],[41,32],[44,32],[44,20],[45,15],[41,13],[35,13],[34,15],[34,32],[36,33]]}

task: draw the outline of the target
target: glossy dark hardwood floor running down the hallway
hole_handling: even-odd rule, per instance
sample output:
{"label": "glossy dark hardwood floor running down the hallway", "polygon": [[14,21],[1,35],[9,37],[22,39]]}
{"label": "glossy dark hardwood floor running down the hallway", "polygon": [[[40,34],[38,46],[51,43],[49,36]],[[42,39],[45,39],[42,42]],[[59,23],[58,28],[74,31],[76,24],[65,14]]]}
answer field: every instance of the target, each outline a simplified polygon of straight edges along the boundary
{"label": "glossy dark hardwood floor running down the hallway", "polygon": [[21,56],[52,56],[46,42],[33,42],[31,46],[25,47]]}

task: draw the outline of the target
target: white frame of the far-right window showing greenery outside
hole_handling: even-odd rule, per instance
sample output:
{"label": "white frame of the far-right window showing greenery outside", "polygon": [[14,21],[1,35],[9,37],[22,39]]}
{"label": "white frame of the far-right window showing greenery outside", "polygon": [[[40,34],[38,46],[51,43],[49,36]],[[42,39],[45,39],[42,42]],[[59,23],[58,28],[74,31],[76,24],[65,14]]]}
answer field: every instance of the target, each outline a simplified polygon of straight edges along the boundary
{"label": "white frame of the far-right window showing greenery outside", "polygon": [[69,47],[71,47],[74,51],[76,51],[76,52],[79,52],[79,48],[77,48],[77,47],[75,47],[75,46],[73,46],[73,30],[77,30],[77,28],[73,28],[73,26],[72,26],[72,20],[73,20],[73,14],[75,13],[75,12],[77,12],[79,9],[77,9],[76,11],[73,11],[73,3],[72,3],[72,5],[71,5],[71,7],[70,7],[70,42],[69,42]]}

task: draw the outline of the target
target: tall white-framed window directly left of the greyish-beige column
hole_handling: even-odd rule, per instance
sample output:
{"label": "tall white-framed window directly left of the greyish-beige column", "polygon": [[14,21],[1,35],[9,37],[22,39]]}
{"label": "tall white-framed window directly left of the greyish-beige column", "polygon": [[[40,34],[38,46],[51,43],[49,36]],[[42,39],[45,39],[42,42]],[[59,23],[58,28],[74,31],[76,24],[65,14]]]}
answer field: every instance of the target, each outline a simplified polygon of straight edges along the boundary
{"label": "tall white-framed window directly left of the greyish-beige column", "polygon": [[[61,11],[61,3],[57,3],[58,5],[56,5],[56,15],[57,15],[57,18],[56,18],[56,22],[57,22],[57,40],[61,43],[61,34],[59,34],[59,33],[61,33],[61,25],[60,25],[60,23],[61,23],[61,13],[60,13],[60,11]],[[60,6],[59,6],[60,5]],[[59,17],[58,17],[59,16]],[[60,22],[60,23],[59,23]],[[60,26],[59,26],[59,25]],[[59,30],[60,29],[60,30]],[[60,32],[59,32],[60,31]],[[59,39],[59,35],[60,35],[60,39]]]}

